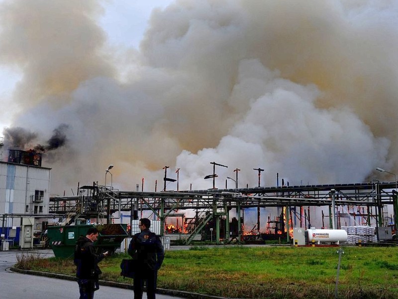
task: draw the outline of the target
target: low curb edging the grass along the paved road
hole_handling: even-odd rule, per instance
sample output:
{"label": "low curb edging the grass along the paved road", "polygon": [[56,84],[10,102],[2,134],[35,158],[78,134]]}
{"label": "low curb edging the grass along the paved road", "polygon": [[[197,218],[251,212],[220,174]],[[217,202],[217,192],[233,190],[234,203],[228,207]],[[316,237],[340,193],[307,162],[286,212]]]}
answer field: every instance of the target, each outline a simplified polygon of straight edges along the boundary
{"label": "low curb edging the grass along the paved road", "polygon": [[[10,267],[8,269],[12,272],[17,272],[17,273],[21,273],[21,274],[43,276],[43,277],[49,277],[49,278],[57,278],[57,279],[63,279],[63,280],[69,280],[69,281],[76,281],[76,277],[70,276],[70,275],[33,271],[33,270],[23,270],[23,269],[18,269],[18,268],[14,268],[14,267]],[[104,280],[100,280],[100,286],[133,290],[133,286],[130,284],[116,283],[116,282],[110,282],[110,281],[104,281]],[[191,293],[191,292],[186,292],[186,291],[159,289],[159,288],[157,288],[156,293],[162,294],[162,295],[173,296],[173,297],[182,297],[182,298],[190,298],[190,299],[227,299],[225,297],[211,296],[211,295],[205,295],[205,294],[199,294],[199,293]]]}

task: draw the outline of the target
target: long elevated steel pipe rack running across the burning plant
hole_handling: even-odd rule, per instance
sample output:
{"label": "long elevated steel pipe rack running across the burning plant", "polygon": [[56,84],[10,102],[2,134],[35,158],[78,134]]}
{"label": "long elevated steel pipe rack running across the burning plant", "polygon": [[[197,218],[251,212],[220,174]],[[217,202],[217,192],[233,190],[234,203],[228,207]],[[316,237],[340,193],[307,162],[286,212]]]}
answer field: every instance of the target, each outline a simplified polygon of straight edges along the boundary
{"label": "long elevated steel pipe rack running across the burning plant", "polygon": [[[65,214],[71,221],[77,217],[106,218],[110,223],[115,212],[150,210],[162,222],[173,217],[177,210],[194,209],[197,221],[187,237],[189,244],[204,225],[213,217],[216,223],[216,241],[219,236],[219,221],[229,219],[229,211],[235,208],[237,215],[251,207],[328,206],[330,227],[335,225],[335,207],[352,205],[375,207],[377,226],[385,226],[386,207],[394,209],[394,223],[398,223],[398,199],[396,182],[369,182],[354,184],[300,185],[279,187],[252,187],[239,189],[206,189],[190,191],[120,191],[93,183],[80,187],[79,196],[50,197],[50,213]],[[181,212],[180,212],[181,213]],[[286,213],[289,223],[289,213]],[[369,219],[371,213],[369,213]],[[241,227],[238,217],[238,227]],[[229,221],[225,224],[225,239],[229,238]],[[162,232],[163,233],[163,232]],[[239,230],[239,238],[242,232]],[[288,236],[289,238],[289,236]]]}

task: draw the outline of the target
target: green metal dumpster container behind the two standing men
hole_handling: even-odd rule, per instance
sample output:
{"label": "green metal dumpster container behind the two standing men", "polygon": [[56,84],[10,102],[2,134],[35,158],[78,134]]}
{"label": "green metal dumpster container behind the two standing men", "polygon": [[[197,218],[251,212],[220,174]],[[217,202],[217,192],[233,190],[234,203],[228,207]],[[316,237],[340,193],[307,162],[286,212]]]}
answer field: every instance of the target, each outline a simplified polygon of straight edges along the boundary
{"label": "green metal dumpster container behind the two standing men", "polygon": [[91,227],[96,227],[99,231],[98,239],[94,243],[97,253],[105,251],[113,253],[128,237],[126,224],[49,226],[47,236],[55,257],[73,257],[76,241],[79,236],[86,236]]}

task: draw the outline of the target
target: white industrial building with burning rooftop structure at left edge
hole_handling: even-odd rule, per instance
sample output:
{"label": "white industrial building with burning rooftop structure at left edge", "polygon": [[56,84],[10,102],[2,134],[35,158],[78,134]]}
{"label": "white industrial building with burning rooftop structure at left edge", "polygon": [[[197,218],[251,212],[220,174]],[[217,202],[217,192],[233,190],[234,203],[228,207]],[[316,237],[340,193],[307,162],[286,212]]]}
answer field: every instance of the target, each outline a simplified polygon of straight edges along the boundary
{"label": "white industrial building with burning rooftop structure at left edge", "polygon": [[50,171],[41,167],[41,154],[34,151],[3,152],[0,139],[0,232],[18,241],[21,217],[34,218],[33,230],[48,220]]}

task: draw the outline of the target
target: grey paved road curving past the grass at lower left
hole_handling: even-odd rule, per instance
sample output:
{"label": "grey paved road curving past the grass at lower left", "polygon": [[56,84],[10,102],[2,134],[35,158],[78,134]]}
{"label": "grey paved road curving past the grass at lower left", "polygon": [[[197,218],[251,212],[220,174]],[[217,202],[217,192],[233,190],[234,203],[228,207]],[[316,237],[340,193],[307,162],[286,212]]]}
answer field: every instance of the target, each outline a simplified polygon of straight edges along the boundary
{"label": "grey paved road curving past the grass at lower left", "polygon": [[[26,251],[24,251],[26,253]],[[29,251],[44,257],[54,256],[52,250]],[[21,251],[0,251],[0,298],[1,299],[73,299],[79,298],[78,284],[73,281],[19,274],[7,271],[16,263]],[[133,298],[132,290],[100,286],[95,299]],[[143,298],[146,298],[144,294]],[[156,295],[157,299],[178,297]],[[181,298],[181,297],[180,297]]]}

